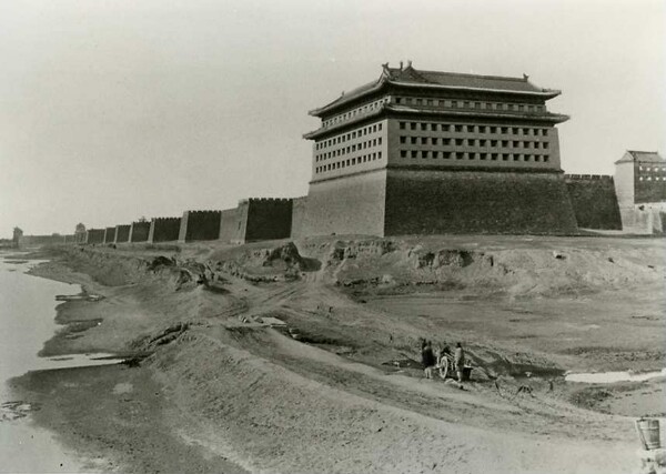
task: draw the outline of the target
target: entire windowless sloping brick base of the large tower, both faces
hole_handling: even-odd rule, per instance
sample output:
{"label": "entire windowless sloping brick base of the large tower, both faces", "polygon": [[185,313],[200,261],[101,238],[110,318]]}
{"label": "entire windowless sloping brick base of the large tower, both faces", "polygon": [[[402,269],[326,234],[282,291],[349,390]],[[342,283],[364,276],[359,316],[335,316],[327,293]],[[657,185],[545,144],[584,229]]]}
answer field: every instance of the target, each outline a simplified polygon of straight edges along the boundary
{"label": "entire windowless sloping brick base of the large tower, both faces", "polygon": [[292,238],[331,234],[576,234],[557,172],[383,169],[311,183]]}

